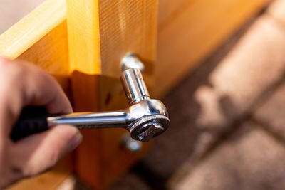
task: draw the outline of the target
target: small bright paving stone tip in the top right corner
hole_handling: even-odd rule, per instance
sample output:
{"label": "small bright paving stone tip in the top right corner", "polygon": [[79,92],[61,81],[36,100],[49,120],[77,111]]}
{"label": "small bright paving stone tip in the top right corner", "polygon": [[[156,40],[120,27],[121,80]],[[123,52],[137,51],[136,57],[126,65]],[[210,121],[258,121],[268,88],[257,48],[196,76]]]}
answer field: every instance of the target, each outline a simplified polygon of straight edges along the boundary
{"label": "small bright paving stone tip in the top right corner", "polygon": [[268,13],[285,26],[285,0],[276,0],[269,6]]}

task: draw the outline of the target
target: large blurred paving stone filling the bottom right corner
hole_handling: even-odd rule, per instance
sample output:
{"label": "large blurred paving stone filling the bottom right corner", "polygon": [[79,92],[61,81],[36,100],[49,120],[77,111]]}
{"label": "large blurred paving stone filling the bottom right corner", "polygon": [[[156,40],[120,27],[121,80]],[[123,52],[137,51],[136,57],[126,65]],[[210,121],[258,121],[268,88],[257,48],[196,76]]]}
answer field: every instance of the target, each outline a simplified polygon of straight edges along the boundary
{"label": "large blurred paving stone filling the bottom right corner", "polygon": [[281,190],[285,186],[284,159],[284,145],[247,123],[174,189]]}

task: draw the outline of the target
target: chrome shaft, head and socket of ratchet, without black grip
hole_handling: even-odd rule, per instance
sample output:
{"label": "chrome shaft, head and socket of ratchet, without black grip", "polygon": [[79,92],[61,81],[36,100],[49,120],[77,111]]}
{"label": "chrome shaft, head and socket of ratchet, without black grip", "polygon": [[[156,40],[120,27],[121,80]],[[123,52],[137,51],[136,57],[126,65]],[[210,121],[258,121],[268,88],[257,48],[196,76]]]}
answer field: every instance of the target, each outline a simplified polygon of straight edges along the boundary
{"label": "chrome shaft, head and socket of ratchet, without black grip", "polygon": [[[134,57],[137,61],[138,58]],[[131,58],[128,58],[132,61]],[[123,127],[135,140],[147,142],[170,125],[167,109],[160,100],[150,98],[142,73],[138,68],[127,68],[120,76],[130,107],[114,112],[84,112],[48,117],[48,125],[69,124],[79,129]]]}

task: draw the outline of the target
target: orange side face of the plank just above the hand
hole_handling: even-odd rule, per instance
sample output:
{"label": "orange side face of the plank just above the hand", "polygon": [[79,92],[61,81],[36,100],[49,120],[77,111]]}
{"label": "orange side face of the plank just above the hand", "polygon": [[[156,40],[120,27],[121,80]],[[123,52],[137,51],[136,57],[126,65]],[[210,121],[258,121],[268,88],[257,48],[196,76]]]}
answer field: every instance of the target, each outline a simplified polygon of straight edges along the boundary
{"label": "orange side face of the plank just above the hand", "polygon": [[53,75],[71,99],[69,81],[71,70],[68,59],[66,28],[66,21],[59,23],[58,26],[49,31],[41,40],[34,43],[31,48],[24,51],[18,58],[34,63]]}

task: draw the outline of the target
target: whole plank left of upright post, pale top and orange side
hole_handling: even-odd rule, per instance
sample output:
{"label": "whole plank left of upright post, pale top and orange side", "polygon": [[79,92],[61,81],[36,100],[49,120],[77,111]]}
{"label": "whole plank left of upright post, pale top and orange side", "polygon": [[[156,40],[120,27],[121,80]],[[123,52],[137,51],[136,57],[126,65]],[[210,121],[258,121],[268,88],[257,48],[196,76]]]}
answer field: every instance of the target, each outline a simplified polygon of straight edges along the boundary
{"label": "whole plank left of upright post, pale top and orange side", "polygon": [[38,65],[54,75],[69,95],[65,1],[45,1],[1,34],[0,55]]}

